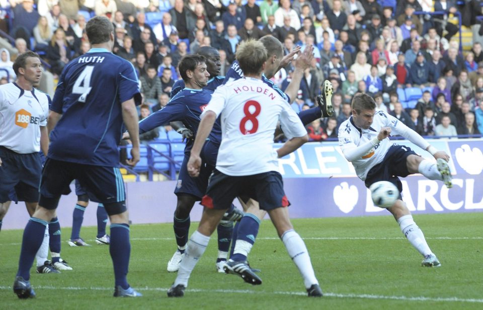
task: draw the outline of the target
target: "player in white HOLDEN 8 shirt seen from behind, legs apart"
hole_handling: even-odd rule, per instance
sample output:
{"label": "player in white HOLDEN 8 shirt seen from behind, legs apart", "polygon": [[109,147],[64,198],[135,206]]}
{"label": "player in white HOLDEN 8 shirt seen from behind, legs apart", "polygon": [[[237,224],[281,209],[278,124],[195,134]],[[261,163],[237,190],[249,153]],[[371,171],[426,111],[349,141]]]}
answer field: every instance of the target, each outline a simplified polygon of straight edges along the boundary
{"label": "player in white HOLDEN 8 shirt seen from behind, legs apart", "polygon": [[[278,158],[308,141],[307,131],[282,96],[263,83],[262,72],[267,50],[255,40],[241,43],[236,59],[244,78],[219,86],[201,115],[195,143],[188,162],[188,172],[198,176],[200,152],[216,118],[221,115],[222,139],[216,169],[210,177],[205,206],[198,230],[191,235],[178,276],[168,290],[168,296],[181,297],[188,279],[203,255],[211,234],[236,196],[256,198],[260,209],[267,210],[288,254],[299,269],[308,296],[322,296],[315,278],[307,248],[290,223],[288,200],[278,172]],[[278,150],[273,148],[273,132],[280,121],[288,141]],[[261,284],[246,262],[236,262],[225,268],[251,284]],[[227,269],[225,269],[226,271]]]}

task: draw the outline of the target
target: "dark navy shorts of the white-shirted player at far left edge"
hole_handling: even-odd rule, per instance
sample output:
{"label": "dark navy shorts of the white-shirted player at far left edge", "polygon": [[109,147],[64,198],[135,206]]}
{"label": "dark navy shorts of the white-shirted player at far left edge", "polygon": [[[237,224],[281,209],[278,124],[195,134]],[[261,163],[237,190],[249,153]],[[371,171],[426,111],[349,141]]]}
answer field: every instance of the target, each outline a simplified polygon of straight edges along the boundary
{"label": "dark navy shorts of the white-shirted player at far left edge", "polygon": [[19,154],[0,146],[0,203],[39,201],[42,163],[38,152]]}

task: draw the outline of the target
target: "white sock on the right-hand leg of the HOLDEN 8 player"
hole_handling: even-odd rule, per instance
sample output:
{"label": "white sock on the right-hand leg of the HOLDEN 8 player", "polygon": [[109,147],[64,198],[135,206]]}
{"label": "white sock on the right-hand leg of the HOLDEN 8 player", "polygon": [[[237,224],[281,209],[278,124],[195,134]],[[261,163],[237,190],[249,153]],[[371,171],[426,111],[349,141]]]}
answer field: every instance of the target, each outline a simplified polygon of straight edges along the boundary
{"label": "white sock on the right-hand leg of the HOLDEN 8 player", "polygon": [[293,260],[295,265],[303,277],[305,288],[309,288],[312,284],[318,284],[313,272],[312,263],[308,256],[307,248],[302,238],[294,231],[289,230],[283,233],[282,241],[287,248],[288,255]]}

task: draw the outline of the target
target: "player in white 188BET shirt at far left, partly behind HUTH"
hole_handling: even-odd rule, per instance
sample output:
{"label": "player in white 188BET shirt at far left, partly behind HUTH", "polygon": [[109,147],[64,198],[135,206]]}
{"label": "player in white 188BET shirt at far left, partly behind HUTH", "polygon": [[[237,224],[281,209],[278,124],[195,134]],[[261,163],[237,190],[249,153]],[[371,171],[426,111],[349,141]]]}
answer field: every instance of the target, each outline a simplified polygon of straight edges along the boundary
{"label": "player in white 188BET shirt at far left, partly behind HUTH", "polygon": [[[42,174],[39,151],[46,155],[49,146],[46,126],[51,99],[33,87],[42,76],[40,56],[23,53],[13,68],[17,81],[0,86],[0,228],[11,200],[25,201],[30,216],[35,212]],[[46,227],[36,254],[37,273],[59,273],[57,269],[61,269],[47,260],[48,249]],[[62,267],[70,268],[66,264]]]}

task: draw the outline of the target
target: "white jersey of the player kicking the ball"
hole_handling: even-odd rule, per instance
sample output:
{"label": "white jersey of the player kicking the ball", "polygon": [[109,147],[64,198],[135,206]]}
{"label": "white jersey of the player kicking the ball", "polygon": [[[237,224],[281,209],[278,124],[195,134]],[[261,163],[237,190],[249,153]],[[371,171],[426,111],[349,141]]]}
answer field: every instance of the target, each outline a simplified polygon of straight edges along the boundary
{"label": "white jersey of the player kicking the ball", "polygon": [[[342,151],[344,151],[346,148],[363,145],[371,141],[374,137],[377,137],[379,131],[383,127],[390,127],[392,130],[391,134],[394,135],[403,135],[408,131],[406,125],[383,111],[376,111],[369,129],[356,127],[351,116],[339,127],[339,146],[342,148]],[[389,138],[386,138],[377,146],[370,149],[369,152],[362,157],[352,161],[357,176],[362,180],[365,180],[369,170],[382,162],[384,156],[392,145],[393,143]]]}

